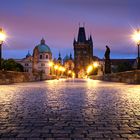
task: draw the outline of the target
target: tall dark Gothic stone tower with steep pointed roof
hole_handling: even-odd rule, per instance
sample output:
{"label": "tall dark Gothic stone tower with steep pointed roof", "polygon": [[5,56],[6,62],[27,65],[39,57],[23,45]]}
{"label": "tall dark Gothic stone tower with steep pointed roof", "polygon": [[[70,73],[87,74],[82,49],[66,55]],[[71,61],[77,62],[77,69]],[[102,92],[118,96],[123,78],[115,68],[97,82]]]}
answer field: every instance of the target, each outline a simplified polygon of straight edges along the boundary
{"label": "tall dark Gothic stone tower with steep pointed roof", "polygon": [[[86,39],[84,27],[79,27],[77,40],[73,41],[74,46],[74,64],[76,77],[81,77],[86,73],[87,66],[93,60],[93,42],[92,36]],[[82,74],[81,74],[82,73]]]}

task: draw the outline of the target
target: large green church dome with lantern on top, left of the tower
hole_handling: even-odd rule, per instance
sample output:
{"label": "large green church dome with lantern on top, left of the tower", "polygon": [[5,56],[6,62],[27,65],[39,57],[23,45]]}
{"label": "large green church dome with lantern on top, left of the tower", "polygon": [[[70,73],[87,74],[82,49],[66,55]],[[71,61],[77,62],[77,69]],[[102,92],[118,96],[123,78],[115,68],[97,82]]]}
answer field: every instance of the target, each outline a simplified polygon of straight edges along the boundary
{"label": "large green church dome with lantern on top, left of the tower", "polygon": [[51,49],[48,45],[45,44],[45,40],[42,39],[40,44],[36,46],[39,53],[51,53]]}

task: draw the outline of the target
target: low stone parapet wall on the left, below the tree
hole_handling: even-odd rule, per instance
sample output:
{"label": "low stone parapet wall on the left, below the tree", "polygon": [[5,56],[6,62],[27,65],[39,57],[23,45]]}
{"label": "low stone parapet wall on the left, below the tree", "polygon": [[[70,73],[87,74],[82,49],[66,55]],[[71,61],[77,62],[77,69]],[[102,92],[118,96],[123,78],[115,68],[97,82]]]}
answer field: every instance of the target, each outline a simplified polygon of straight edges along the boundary
{"label": "low stone parapet wall on the left, below the tree", "polygon": [[0,71],[0,84],[11,84],[19,82],[32,82],[43,80],[39,74],[27,72]]}

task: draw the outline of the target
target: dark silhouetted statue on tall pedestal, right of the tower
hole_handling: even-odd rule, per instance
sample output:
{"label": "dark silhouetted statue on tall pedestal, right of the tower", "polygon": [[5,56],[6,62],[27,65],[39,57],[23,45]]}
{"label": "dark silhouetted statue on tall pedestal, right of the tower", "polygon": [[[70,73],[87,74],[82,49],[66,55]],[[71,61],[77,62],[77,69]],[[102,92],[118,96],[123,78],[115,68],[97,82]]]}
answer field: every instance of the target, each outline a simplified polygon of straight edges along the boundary
{"label": "dark silhouetted statue on tall pedestal, right of the tower", "polygon": [[105,51],[105,74],[111,73],[111,61],[110,61],[110,48],[106,46]]}

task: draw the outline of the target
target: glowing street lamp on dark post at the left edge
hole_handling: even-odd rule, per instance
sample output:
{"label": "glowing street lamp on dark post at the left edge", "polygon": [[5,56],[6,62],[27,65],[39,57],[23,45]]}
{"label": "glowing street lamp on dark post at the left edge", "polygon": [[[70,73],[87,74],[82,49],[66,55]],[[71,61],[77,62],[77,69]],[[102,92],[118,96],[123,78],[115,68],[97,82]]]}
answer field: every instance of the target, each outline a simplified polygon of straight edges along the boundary
{"label": "glowing street lamp on dark post at the left edge", "polygon": [[6,39],[6,35],[0,28],[0,70],[2,69],[2,44]]}

